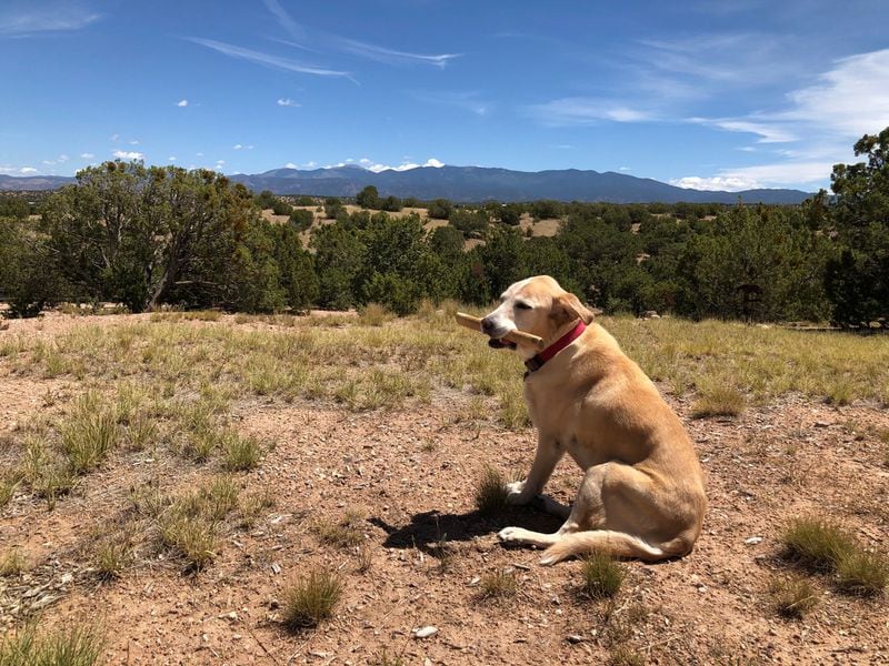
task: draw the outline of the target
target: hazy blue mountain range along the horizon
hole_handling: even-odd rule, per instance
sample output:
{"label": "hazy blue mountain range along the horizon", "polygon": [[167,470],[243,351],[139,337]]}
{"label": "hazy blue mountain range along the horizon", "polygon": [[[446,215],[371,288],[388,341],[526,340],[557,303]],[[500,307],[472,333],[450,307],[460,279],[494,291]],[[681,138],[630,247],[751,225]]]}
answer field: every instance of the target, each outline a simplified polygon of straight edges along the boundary
{"label": "hazy blue mountain range along the horizon", "polygon": [[[800,190],[745,190],[713,192],[668,185],[648,178],[607,171],[511,171],[485,167],[420,167],[406,171],[368,171],[360,167],[333,169],[273,169],[264,173],[237,173],[229,176],[254,192],[276,194],[354,196],[367,185],[380,195],[406,199],[450,199],[451,201],[607,201],[611,203],[800,203],[811,196]],[[0,175],[2,190],[51,190],[73,182],[72,178]]]}

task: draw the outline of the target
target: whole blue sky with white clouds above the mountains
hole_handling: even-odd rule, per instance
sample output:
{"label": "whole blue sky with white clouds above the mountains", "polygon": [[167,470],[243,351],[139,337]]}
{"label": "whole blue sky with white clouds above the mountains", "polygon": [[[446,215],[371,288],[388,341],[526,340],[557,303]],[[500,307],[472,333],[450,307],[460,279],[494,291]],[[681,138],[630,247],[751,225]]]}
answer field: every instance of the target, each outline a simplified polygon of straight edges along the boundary
{"label": "whole blue sky with white clouds above the mountains", "polygon": [[815,190],[889,125],[883,0],[3,0],[0,173],[114,159]]}

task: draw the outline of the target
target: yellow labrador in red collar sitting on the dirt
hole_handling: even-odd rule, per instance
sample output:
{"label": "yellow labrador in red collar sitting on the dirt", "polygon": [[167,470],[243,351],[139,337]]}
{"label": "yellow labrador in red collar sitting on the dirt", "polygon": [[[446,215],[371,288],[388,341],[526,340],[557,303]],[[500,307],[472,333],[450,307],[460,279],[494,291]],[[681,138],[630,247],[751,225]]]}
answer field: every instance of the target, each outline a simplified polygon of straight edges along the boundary
{"label": "yellow labrador in red collar sitting on the dirt", "polygon": [[[510,331],[533,333],[539,354],[500,342]],[[507,543],[547,548],[541,564],[603,551],[649,562],[686,555],[701,531],[707,498],[700,463],[679,417],[639,366],[578,297],[552,278],[512,284],[482,320],[493,347],[525,359],[525,400],[539,431],[525,481],[509,484],[509,501],[526,504],[568,453],[583,470],[569,508],[543,497],[566,518],[555,534],[506,527]]]}

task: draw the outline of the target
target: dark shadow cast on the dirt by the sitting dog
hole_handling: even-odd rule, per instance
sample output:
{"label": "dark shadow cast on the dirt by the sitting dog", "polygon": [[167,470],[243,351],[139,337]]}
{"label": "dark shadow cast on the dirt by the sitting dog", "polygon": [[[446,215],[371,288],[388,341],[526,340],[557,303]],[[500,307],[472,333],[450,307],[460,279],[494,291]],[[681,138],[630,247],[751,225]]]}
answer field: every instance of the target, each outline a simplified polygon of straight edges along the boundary
{"label": "dark shadow cast on the dirt by the sitting dog", "polygon": [[387,538],[382,545],[387,548],[418,548],[434,556],[444,544],[488,536],[510,525],[551,533],[563,521],[546,513],[542,502],[535,500],[528,506],[509,507],[495,514],[480,511],[463,514],[427,511],[412,515],[410,523],[402,526],[391,525],[377,516],[369,517],[368,522],[386,532]]}

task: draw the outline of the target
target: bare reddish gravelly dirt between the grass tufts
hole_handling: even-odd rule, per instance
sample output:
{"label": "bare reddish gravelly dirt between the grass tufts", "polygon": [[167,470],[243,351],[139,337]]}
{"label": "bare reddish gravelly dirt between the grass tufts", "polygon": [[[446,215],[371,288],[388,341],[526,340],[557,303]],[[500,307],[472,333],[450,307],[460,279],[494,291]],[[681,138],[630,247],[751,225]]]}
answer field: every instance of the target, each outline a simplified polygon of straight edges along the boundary
{"label": "bare reddish gravelly dirt between the grass tufts", "polygon": [[[49,340],[124,319],[132,317],[12,321],[0,341]],[[0,442],[47,411],[48,396],[77,394],[72,377],[21,376],[0,357]],[[430,404],[401,411],[237,403],[239,430],[277,443],[242,483],[270,490],[276,505],[249,531],[227,534],[216,562],[197,575],[159,556],[102,583],[82,557],[153,463],[144,451],[113,456],[52,512],[18,493],[0,514],[0,553],[21,547],[30,571],[0,578],[0,615],[10,624],[30,604],[42,606],[44,627],[99,619],[109,664],[889,663],[885,597],[846,596],[812,576],[819,605],[788,620],[769,594],[789,571],[778,557],[788,518],[832,516],[861,543],[889,551],[889,468],[873,434],[889,428],[886,410],[785,397],[737,418],[691,420],[690,397],[670,398],[707,474],[703,534],[685,558],[626,563],[616,599],[590,602],[578,595],[580,563],[541,567],[539,552],[497,542],[503,526],[555,529],[556,518],[533,507],[475,511],[483,466],[527,471],[536,440],[532,428],[465,423],[468,400],[441,387]],[[188,484],[208,470],[154,473]],[[562,461],[548,491],[568,502],[579,481]],[[353,549],[323,544],[311,529],[313,519],[348,509],[364,516],[366,572]],[[290,633],[280,622],[282,591],[314,567],[340,573],[343,599],[319,629]],[[516,596],[481,599],[479,579],[505,568],[517,576]],[[426,626],[437,632],[417,638]]]}

